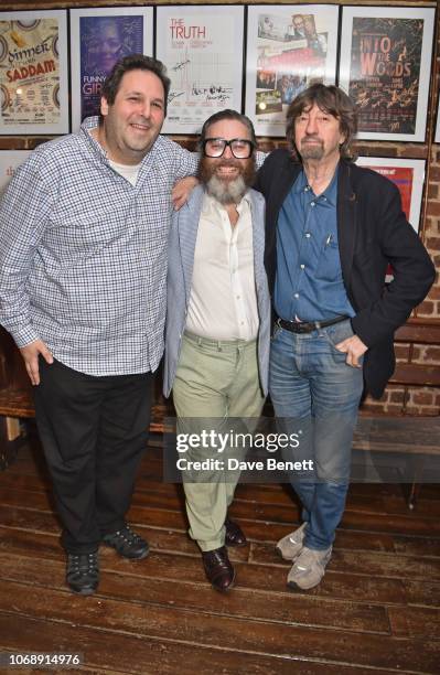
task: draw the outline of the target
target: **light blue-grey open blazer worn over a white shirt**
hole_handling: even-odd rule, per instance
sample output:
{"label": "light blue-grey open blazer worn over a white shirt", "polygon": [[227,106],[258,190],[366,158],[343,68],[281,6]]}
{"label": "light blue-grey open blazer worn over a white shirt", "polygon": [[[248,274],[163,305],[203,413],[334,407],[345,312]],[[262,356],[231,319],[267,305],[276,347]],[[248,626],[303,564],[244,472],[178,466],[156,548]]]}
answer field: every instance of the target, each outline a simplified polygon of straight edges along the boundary
{"label": "light blue-grey open blazer worn over a white shirt", "polygon": [[[268,389],[270,297],[264,265],[265,253],[265,200],[255,190],[249,190],[254,239],[254,275],[259,313],[258,368],[262,393]],[[195,188],[187,201],[174,212],[169,244],[165,358],[163,367],[163,394],[169,396],[178,369],[182,335],[190,303],[194,265],[194,249],[198,221],[202,212],[204,190]]]}

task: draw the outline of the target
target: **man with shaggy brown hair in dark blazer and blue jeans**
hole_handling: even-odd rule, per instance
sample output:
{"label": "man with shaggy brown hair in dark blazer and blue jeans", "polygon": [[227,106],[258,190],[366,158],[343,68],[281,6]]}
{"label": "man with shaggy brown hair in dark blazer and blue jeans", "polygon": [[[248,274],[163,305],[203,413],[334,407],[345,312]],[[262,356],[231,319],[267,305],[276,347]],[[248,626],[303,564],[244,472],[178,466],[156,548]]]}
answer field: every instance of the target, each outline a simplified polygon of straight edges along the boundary
{"label": "man with shaggy brown hair in dark blazer and blue jeans", "polygon": [[[396,185],[352,161],[356,121],[342,89],[312,85],[288,109],[291,148],[266,159],[256,184],[267,202],[265,258],[277,315],[270,397],[282,430],[302,432],[294,459],[312,459],[315,469],[291,476],[303,524],[277,545],[293,561],[288,585],[300,589],[320,582],[332,554],[364,384],[382,396],[394,371],[394,332],[434,279]],[[388,264],[394,280],[386,286]]]}

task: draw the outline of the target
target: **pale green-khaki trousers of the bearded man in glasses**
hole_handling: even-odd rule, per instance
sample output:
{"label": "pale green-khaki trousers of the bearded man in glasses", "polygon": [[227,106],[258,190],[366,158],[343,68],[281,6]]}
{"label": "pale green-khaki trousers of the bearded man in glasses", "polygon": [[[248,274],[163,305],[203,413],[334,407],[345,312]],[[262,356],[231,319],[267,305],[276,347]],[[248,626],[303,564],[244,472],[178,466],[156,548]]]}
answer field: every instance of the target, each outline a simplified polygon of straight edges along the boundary
{"label": "pale green-khaki trousers of the bearded man in glasses", "polygon": [[[206,427],[225,432],[237,428],[237,418],[259,417],[265,397],[258,377],[257,341],[216,341],[185,333],[173,400],[179,433],[201,432]],[[244,427],[239,430],[244,431]],[[193,448],[186,457],[203,461],[226,453],[218,454],[213,448]],[[236,450],[234,457],[238,457]],[[183,486],[190,536],[206,551],[224,546],[225,518],[239,472],[225,475],[223,471],[213,471],[207,475],[204,471],[203,476],[207,482],[184,478]]]}

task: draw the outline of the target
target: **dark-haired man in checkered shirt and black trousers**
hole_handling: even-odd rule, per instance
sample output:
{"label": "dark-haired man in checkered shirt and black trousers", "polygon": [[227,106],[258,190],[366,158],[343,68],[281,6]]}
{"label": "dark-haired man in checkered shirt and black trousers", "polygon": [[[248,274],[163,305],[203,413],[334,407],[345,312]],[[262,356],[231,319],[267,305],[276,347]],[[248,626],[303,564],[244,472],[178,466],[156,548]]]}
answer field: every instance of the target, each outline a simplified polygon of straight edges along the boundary
{"label": "dark-haired man in checkered shirt and black trousers", "polygon": [[0,210],[0,320],[35,385],[66,580],[82,594],[98,586],[100,543],[148,555],[125,515],[163,350],[170,194],[197,164],[159,136],[169,87],[154,58],[116,64],[100,119],[40,146]]}

